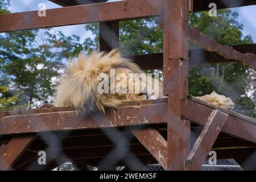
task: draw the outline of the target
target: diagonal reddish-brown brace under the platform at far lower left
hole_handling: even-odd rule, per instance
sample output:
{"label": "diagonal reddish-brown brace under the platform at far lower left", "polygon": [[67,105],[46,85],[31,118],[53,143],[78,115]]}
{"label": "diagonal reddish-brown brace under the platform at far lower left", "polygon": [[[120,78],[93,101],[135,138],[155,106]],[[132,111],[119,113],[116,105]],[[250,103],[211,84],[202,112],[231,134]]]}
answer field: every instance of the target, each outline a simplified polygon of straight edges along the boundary
{"label": "diagonal reddish-brown brace under the platform at far lower left", "polygon": [[36,134],[13,137],[6,145],[2,144],[0,150],[0,170],[10,169],[35,138]]}

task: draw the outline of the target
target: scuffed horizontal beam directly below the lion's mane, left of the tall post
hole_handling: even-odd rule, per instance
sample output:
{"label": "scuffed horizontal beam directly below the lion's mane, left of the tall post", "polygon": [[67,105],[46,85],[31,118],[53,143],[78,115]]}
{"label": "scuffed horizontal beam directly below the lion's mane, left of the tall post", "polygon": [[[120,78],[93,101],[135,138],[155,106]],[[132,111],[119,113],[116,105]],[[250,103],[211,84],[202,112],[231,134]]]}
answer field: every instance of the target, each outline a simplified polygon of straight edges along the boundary
{"label": "scuffed horizontal beam directly below the lion's mane, left of the tall post", "polygon": [[[152,101],[151,101],[152,102]],[[152,112],[154,110],[155,112]],[[79,130],[166,122],[166,105],[134,105],[85,116],[82,111],[13,115],[0,118],[0,134]]]}

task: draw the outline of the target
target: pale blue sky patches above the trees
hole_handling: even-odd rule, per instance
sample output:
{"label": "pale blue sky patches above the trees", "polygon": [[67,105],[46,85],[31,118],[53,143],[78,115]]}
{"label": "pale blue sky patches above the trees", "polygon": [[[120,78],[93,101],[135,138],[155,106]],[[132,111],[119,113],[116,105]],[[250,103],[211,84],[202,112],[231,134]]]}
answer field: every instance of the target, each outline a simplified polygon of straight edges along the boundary
{"label": "pale blue sky patches above the trees", "polygon": [[[110,0],[110,1],[120,1],[120,0]],[[32,11],[38,10],[39,3],[45,3],[47,9],[54,9],[61,7],[47,0],[10,0],[11,6],[9,10],[12,13],[22,12],[22,11]],[[243,34],[250,34],[253,38],[253,42],[256,43],[256,6],[246,6],[232,9],[237,11],[239,14],[238,22],[244,25]],[[75,25],[75,26],[64,26],[64,27],[55,27],[52,28],[52,31],[61,30],[65,35],[79,35],[81,41],[85,38],[92,37],[91,32],[85,31],[84,24]]]}

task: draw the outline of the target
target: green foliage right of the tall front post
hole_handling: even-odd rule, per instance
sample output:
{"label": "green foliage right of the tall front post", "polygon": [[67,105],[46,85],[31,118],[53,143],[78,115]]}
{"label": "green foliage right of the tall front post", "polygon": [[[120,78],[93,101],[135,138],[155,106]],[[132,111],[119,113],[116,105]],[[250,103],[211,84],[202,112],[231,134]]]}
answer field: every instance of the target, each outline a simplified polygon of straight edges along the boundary
{"label": "green foliage right of the tall front post", "polygon": [[[223,45],[253,43],[250,35],[242,34],[243,24],[236,20],[237,16],[238,14],[231,10],[219,10],[216,17],[210,17],[207,12],[195,13],[190,16],[190,24],[200,27],[202,34]],[[200,65],[190,68],[189,94],[199,96],[216,90],[231,97],[238,106],[249,106],[247,113],[245,111],[244,114],[251,115],[251,109],[253,107],[255,109],[256,102],[245,94],[249,84],[247,71],[247,67],[238,63]]]}

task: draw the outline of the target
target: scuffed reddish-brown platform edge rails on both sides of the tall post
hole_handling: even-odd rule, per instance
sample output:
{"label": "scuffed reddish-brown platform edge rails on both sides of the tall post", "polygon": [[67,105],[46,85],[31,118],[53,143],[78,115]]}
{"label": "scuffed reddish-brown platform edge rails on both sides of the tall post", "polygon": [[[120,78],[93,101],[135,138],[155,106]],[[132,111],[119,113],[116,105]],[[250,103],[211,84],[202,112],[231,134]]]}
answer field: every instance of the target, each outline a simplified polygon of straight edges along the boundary
{"label": "scuffed reddish-brown platform edge rails on both sides of the tall post", "polygon": [[[133,104],[133,106],[131,106]],[[85,117],[81,111],[71,111],[69,107],[53,107],[51,110],[35,109],[24,114],[6,113],[0,118],[0,134],[35,133],[39,131],[79,130],[100,127],[121,127],[130,125],[147,125],[166,123],[167,100],[146,100],[127,102],[115,111],[106,111],[105,116]],[[64,111],[67,109],[67,111]],[[184,108],[181,108],[184,109]],[[234,111],[222,109],[193,98],[187,100],[183,119],[189,119],[199,125],[205,125],[213,110],[229,114],[222,132],[234,137],[256,143],[256,121]],[[42,110],[42,111],[40,111]],[[55,111],[54,111],[55,110]],[[61,110],[61,111],[57,111]],[[152,112],[154,110],[154,112]],[[46,111],[46,113],[43,113]],[[39,113],[39,114],[31,114]]]}

